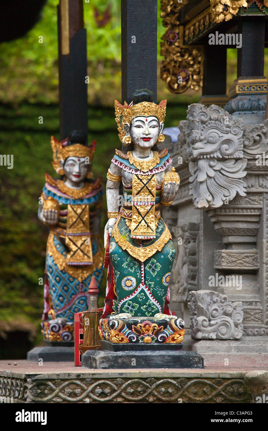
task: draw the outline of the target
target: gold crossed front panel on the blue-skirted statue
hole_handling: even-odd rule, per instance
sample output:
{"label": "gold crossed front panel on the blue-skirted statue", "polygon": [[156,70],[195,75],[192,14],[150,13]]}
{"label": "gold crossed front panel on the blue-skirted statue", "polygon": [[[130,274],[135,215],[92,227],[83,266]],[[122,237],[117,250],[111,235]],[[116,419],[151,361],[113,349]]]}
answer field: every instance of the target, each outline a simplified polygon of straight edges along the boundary
{"label": "gold crossed front panel on the blue-skirted statue", "polygon": [[68,265],[92,265],[88,204],[68,205],[66,247]]}

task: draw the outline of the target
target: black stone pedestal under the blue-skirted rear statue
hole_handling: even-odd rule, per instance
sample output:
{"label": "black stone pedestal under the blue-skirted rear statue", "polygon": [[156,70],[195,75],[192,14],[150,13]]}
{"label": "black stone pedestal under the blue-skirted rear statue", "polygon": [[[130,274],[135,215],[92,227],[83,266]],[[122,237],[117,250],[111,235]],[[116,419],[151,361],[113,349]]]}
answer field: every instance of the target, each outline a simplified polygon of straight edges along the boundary
{"label": "black stone pedestal under the blue-skirted rear statue", "polygon": [[74,346],[42,346],[34,347],[27,353],[27,360],[32,362],[74,362]]}

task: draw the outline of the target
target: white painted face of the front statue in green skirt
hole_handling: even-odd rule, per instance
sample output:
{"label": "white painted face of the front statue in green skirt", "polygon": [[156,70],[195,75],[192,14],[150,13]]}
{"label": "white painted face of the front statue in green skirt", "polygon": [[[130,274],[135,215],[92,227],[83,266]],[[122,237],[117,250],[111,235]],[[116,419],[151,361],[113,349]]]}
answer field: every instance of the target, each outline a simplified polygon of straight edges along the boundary
{"label": "white painted face of the front statue in green skirt", "polygon": [[157,117],[139,116],[131,122],[131,127],[125,125],[125,132],[131,137],[134,146],[139,148],[151,148],[157,143],[163,130],[163,122],[159,124]]}

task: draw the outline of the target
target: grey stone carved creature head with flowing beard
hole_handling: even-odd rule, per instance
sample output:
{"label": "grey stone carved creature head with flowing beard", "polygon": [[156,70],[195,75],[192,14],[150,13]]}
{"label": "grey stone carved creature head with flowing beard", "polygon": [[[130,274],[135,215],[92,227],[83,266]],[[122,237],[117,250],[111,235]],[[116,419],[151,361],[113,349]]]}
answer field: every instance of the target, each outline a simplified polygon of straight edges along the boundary
{"label": "grey stone carved creature head with flowing beard", "polygon": [[193,103],[184,125],[190,159],[190,194],[198,209],[218,208],[236,194],[246,196],[243,121],[216,105]]}

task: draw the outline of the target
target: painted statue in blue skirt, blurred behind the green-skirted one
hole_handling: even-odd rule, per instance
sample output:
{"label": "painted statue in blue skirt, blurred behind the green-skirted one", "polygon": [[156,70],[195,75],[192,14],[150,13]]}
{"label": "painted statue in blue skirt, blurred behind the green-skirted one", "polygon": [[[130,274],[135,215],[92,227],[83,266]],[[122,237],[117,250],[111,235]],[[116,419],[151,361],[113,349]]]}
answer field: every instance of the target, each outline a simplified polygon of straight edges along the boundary
{"label": "painted statue in blue skirt, blurred behind the green-skirted one", "polygon": [[60,175],[46,174],[39,219],[49,226],[42,332],[50,341],[73,340],[74,313],[87,309],[92,275],[98,287],[103,253],[98,234],[102,204],[101,178],[93,179],[95,141],[73,131],[59,142],[51,138],[52,165]]}

